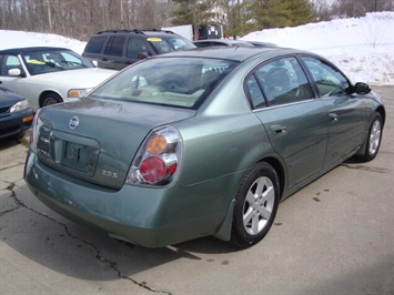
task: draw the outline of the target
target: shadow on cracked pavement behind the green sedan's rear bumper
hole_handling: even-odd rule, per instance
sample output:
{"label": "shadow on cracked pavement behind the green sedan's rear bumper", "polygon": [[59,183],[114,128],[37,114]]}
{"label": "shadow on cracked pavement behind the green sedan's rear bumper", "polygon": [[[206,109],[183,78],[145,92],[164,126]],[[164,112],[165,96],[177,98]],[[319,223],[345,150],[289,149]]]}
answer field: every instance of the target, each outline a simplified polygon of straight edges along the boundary
{"label": "shadow on cracked pavement behind the green sedan's rear bumper", "polygon": [[79,279],[130,278],[168,263],[211,262],[210,254],[240,251],[214,237],[161,248],[137,246],[63,218],[42,205],[27,185],[16,186],[9,197],[1,197],[0,238],[11,248],[8,251],[24,256],[27,260],[20,258],[22,263],[37,263],[33,268],[43,266]]}

